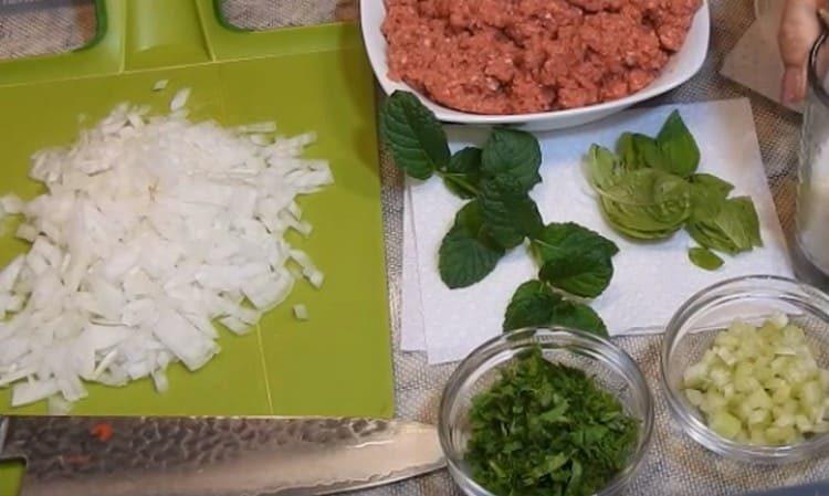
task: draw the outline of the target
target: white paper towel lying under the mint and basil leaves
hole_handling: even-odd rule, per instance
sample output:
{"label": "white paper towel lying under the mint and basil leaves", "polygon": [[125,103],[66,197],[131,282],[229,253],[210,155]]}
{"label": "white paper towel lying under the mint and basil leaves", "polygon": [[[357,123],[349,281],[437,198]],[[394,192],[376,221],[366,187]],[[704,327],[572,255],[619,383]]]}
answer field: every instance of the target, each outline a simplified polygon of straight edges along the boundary
{"label": "white paper towel lying under the mint and basil leaves", "polygon": [[[592,143],[613,147],[626,130],[655,135],[674,108],[680,109],[700,145],[700,170],[732,182],[733,194],[751,194],[760,218],[765,246],[736,257],[725,256],[725,265],[715,272],[703,271],[688,260],[688,249],[693,243],[684,231],[652,244],[634,243],[616,234],[602,220],[583,175],[581,158]],[[452,128],[451,148],[480,145],[485,135],[484,130]],[[724,278],[758,273],[791,275],[747,99],[628,110],[601,123],[541,134],[538,138],[544,181],[531,194],[544,220],[578,222],[620,247],[613,257],[613,279],[592,304],[611,335],[662,331],[685,299]],[[438,249],[464,202],[437,178],[412,182],[408,188],[411,205],[407,207],[411,208],[406,209],[406,225],[413,220],[423,318],[422,321],[405,319],[403,334],[409,335],[409,342],[418,342],[419,333],[426,336],[431,363],[459,360],[501,333],[512,294],[523,282],[535,277],[537,268],[520,246],[484,281],[463,289],[447,288],[438,273]],[[403,284],[405,302],[418,296],[411,281]]]}

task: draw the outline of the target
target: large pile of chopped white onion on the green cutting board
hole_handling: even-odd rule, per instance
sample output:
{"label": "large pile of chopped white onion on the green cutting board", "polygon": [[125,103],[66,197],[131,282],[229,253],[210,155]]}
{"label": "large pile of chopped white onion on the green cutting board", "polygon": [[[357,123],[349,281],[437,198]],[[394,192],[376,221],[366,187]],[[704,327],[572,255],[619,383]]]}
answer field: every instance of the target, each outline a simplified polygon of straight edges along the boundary
{"label": "large pile of chopped white onion on the green cutting board", "polygon": [[71,147],[33,156],[45,193],[0,201],[31,242],[0,272],[0,387],[13,405],[65,409],[84,381],[151,377],[164,391],[170,363],[197,370],[219,351],[216,321],[243,334],[297,277],[322,285],[284,239],[311,232],[297,196],[333,180],[327,162],[301,158],[314,135],[191,122],[188,95],[162,116],[117,106]]}

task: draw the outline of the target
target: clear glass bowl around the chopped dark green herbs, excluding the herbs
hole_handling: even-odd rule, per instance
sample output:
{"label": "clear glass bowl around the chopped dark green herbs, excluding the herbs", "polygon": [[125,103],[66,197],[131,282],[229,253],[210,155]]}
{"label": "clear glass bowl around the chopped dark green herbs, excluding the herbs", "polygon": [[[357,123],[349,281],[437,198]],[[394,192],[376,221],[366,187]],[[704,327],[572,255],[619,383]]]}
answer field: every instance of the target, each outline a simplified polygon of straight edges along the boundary
{"label": "clear glass bowl around the chopped dark green herbs, excluding the herbs", "polygon": [[492,496],[472,478],[463,460],[470,436],[472,398],[489,389],[500,378],[501,369],[536,345],[547,360],[594,376],[600,387],[621,402],[629,415],[641,422],[628,465],[597,495],[619,493],[629,484],[648,450],[653,429],[653,400],[642,372],[625,351],[606,339],[565,328],[505,333],[481,345],[458,366],[443,390],[438,420],[449,473],[468,495]]}

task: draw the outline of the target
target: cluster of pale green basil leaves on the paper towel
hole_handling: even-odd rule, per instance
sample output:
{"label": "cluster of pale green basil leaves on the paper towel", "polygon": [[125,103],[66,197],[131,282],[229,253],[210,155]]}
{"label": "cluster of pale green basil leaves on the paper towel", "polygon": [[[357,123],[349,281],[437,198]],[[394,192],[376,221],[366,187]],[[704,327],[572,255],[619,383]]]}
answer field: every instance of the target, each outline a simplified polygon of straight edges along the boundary
{"label": "cluster of pale green basil leaves on the paper towel", "polygon": [[587,162],[605,219],[627,236],[662,240],[684,228],[700,244],[689,257],[706,270],[723,264],[712,250],[735,255],[763,245],[752,199],[728,198],[731,183],[696,172],[700,149],[676,110],[655,138],[625,133],[616,154],[592,145]]}

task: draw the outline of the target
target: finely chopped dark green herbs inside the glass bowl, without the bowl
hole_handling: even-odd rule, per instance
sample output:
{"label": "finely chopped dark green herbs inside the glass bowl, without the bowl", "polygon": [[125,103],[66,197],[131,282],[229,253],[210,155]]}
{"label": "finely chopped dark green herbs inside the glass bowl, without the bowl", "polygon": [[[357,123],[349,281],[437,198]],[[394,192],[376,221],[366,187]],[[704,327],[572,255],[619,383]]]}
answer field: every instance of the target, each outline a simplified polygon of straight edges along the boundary
{"label": "finely chopped dark green herbs inside the glass bowl, without the bowl", "polygon": [[465,461],[502,496],[590,496],[625,468],[639,422],[584,371],[532,349],[478,394]]}

